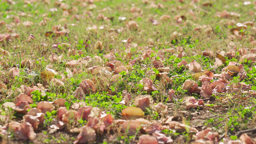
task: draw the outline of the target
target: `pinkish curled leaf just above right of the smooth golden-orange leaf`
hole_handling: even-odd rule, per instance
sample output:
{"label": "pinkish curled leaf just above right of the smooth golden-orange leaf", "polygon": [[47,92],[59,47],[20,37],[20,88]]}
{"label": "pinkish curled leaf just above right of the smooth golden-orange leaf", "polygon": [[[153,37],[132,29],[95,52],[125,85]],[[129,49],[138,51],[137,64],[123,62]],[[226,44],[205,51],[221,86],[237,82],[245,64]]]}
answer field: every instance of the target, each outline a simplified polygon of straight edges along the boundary
{"label": "pinkish curled leaf just above right of the smooth golden-orange leaf", "polygon": [[147,107],[150,106],[150,104],[153,103],[153,98],[150,95],[137,96],[134,102],[137,107],[144,111]]}

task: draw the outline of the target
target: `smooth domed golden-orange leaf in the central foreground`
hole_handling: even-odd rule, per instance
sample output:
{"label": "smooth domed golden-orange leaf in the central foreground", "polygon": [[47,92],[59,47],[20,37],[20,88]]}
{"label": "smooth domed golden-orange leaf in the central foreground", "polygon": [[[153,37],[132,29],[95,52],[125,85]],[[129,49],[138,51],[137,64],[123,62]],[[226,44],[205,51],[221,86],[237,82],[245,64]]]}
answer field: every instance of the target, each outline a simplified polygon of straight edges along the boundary
{"label": "smooth domed golden-orange leaf in the central foreground", "polygon": [[122,110],[122,119],[124,120],[138,119],[143,117],[144,112],[141,108],[127,107]]}

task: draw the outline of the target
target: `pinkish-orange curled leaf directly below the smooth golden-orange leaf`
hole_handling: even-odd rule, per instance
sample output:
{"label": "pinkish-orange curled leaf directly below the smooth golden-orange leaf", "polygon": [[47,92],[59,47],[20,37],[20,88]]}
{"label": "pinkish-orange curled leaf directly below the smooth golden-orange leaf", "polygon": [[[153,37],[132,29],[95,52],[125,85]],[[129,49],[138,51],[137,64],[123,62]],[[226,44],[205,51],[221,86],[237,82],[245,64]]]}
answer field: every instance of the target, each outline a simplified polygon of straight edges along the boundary
{"label": "pinkish-orange curled leaf directly below the smooth golden-orange leaf", "polygon": [[122,124],[122,132],[134,135],[140,129],[140,123],[136,120],[126,120]]}

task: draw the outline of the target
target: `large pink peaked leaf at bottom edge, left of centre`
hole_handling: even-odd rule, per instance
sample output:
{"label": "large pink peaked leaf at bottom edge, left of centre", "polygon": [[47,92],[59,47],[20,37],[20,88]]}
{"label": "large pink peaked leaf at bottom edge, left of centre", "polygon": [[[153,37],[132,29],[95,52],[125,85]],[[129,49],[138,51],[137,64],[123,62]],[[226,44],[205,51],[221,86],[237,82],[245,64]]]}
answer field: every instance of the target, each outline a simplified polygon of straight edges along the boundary
{"label": "large pink peaked leaf at bottom edge, left of centre", "polygon": [[73,144],[93,144],[96,140],[95,130],[88,126],[83,126]]}

